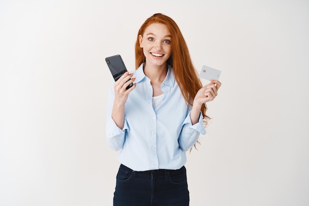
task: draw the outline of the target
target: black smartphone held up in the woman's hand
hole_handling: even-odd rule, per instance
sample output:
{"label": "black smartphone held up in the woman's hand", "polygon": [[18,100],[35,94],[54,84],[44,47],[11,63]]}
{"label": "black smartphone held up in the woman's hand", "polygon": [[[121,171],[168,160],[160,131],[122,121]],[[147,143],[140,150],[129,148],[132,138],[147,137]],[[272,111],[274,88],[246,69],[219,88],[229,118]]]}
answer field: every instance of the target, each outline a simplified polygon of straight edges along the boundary
{"label": "black smartphone held up in the woman's hand", "polygon": [[[122,76],[122,74],[124,74],[127,71],[122,61],[122,58],[119,54],[105,58],[105,62],[109,67],[115,81],[117,81],[120,78],[120,76]],[[127,86],[126,89],[129,89],[132,86],[133,83]]]}

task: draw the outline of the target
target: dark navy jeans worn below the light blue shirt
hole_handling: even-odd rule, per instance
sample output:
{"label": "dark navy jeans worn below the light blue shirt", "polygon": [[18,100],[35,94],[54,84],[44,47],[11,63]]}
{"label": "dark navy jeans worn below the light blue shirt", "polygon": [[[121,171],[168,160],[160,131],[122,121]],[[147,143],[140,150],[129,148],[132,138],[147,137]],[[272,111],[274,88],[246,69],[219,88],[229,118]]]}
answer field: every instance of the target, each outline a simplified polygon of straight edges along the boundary
{"label": "dark navy jeans worn below the light blue shirt", "polygon": [[189,206],[186,168],[132,171],[120,165],[114,206]]}

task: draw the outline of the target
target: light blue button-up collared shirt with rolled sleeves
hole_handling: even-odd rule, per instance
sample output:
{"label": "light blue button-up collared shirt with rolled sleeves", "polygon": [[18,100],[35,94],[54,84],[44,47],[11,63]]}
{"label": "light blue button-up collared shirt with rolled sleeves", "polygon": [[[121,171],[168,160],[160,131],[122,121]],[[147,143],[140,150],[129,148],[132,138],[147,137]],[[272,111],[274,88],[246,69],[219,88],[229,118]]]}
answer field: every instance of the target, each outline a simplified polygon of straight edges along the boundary
{"label": "light blue button-up collared shirt with rolled sleeves", "polygon": [[119,129],[112,119],[114,87],[110,87],[107,104],[106,136],[118,161],[134,171],[177,170],[187,161],[200,134],[206,134],[200,112],[199,122],[192,125],[191,106],[183,98],[169,66],[161,84],[162,102],[153,107],[153,88],[145,76],[143,64],[132,71],[136,88],[130,92],[124,108],[124,127]]}

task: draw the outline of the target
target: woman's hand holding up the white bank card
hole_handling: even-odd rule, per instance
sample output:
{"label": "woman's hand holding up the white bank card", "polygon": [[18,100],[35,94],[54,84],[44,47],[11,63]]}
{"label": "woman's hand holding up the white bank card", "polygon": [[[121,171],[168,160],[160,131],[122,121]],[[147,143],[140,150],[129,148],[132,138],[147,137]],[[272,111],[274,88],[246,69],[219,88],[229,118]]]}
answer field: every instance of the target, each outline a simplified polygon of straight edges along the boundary
{"label": "woman's hand holding up the white bank card", "polygon": [[[210,83],[199,89],[193,100],[193,104],[201,106],[203,103],[213,101],[217,95],[221,86],[221,82],[218,80],[211,80]],[[200,108],[200,107],[199,107]]]}

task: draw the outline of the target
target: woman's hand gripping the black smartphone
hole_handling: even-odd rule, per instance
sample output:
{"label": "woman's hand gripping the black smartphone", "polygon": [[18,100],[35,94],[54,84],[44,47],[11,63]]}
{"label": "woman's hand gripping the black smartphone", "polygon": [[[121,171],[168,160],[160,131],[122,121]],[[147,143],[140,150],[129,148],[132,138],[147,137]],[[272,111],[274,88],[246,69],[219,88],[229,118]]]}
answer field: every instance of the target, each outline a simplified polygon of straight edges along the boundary
{"label": "woman's hand gripping the black smartphone", "polygon": [[124,104],[128,98],[129,93],[136,87],[136,83],[132,87],[126,89],[135,78],[132,78],[133,73],[125,72],[114,84],[115,100],[114,103],[118,105]]}

